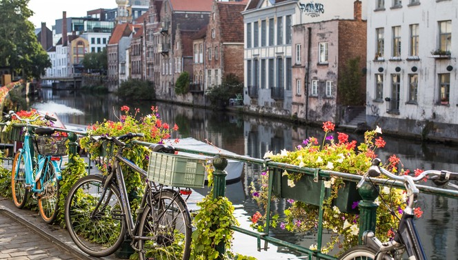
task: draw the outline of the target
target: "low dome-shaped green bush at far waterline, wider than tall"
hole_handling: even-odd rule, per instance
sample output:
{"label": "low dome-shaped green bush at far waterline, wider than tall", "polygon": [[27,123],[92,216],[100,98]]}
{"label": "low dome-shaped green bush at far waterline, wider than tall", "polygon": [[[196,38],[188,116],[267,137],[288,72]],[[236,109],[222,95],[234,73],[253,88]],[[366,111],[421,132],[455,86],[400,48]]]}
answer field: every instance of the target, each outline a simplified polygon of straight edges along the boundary
{"label": "low dome-shaped green bush at far waterline, wider than tall", "polygon": [[121,83],[116,94],[124,99],[152,100],[156,98],[155,86],[151,81],[128,79]]}

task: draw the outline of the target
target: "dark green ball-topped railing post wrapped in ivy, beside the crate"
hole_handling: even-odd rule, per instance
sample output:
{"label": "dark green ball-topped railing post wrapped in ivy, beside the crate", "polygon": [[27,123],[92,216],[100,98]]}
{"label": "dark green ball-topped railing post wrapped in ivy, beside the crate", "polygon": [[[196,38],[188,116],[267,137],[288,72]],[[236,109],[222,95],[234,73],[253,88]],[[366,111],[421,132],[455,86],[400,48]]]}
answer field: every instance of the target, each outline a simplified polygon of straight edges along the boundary
{"label": "dark green ball-topped railing post wrapped in ivy, beside the crate", "polygon": [[[215,155],[213,157],[213,166],[215,167],[215,172],[213,172],[213,199],[217,199],[218,197],[224,197],[226,193],[226,175],[228,175],[228,172],[224,169],[228,166],[228,159]],[[218,259],[223,259],[226,245],[219,243],[216,249],[219,252]]]}

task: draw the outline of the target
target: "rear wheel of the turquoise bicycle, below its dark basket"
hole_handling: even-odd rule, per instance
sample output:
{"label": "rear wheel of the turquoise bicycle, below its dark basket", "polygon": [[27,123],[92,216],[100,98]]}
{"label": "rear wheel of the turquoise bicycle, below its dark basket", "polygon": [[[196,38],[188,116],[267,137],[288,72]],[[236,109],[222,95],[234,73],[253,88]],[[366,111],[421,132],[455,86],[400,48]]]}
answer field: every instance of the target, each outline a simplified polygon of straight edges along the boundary
{"label": "rear wheel of the turquoise bicycle, below its dark basket", "polygon": [[43,183],[43,191],[38,196],[38,208],[43,220],[50,224],[57,217],[59,209],[59,181],[56,177],[56,171],[52,163],[48,161],[48,167],[43,168],[41,178],[37,181],[37,188],[41,189]]}

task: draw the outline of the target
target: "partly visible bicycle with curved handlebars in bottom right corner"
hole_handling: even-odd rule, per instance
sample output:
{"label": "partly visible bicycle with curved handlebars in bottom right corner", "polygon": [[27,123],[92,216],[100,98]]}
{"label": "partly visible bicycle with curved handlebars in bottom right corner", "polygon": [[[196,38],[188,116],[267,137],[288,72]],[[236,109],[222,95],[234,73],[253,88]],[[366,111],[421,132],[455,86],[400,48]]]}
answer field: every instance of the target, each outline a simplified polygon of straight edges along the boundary
{"label": "partly visible bicycle with curved handlebars in bottom right corner", "polygon": [[[458,180],[458,172],[449,172],[446,170],[426,170],[421,172],[417,177],[409,175],[398,176],[392,174],[388,170],[380,167],[380,159],[374,159],[372,166],[370,166],[368,172],[364,174],[364,177],[359,181],[357,188],[361,187],[365,181],[370,181],[370,177],[378,177],[380,174],[384,174],[390,179],[402,181],[406,187],[408,199],[406,201],[406,208],[404,208],[401,219],[397,227],[397,232],[394,239],[391,241],[381,242],[375,237],[374,232],[366,231],[363,234],[363,245],[355,246],[350,248],[339,259],[341,260],[400,260],[403,257],[404,252],[407,253],[408,259],[425,260],[426,255],[424,253],[423,246],[417,233],[417,229],[414,224],[414,209],[415,203],[419,195],[419,190],[415,185],[416,182],[430,177],[438,186],[443,186],[450,180]],[[458,188],[453,183],[448,183],[454,188]]]}

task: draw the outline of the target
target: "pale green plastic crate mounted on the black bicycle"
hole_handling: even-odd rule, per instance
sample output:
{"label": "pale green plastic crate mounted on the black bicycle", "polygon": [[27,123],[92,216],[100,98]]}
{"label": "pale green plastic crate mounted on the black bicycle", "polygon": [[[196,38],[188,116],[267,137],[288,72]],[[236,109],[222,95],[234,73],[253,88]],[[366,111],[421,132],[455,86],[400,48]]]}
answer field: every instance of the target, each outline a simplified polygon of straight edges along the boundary
{"label": "pale green plastic crate mounted on the black bicycle", "polygon": [[202,188],[205,160],[178,154],[151,152],[148,179],[167,186]]}

